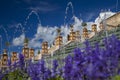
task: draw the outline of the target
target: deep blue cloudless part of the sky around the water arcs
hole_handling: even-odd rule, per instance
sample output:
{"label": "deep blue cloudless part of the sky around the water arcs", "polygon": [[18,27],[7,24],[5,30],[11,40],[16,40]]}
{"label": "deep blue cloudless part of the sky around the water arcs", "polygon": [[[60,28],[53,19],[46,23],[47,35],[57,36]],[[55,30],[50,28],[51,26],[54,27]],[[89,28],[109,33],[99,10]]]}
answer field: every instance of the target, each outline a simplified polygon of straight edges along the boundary
{"label": "deep blue cloudless part of the sky around the water arcs", "polygon": [[[65,14],[68,2],[72,2],[73,14],[84,22],[94,22],[101,11],[110,9],[111,12],[116,12],[116,10],[118,12],[120,10],[119,0],[117,9],[117,0],[1,0],[0,26],[6,29],[11,44],[13,39],[22,36],[23,28],[25,35],[32,40],[37,34],[39,20],[35,14],[32,14],[25,25],[29,13],[34,10],[43,27],[60,27],[64,24],[65,16],[67,16],[66,23],[71,23],[70,19],[73,14],[70,5],[67,14]],[[22,29],[20,26],[16,28],[18,23],[23,25]],[[5,48],[4,44],[7,41],[5,29],[0,27],[2,48]],[[24,36],[22,37],[24,38]],[[40,39],[37,42],[41,43],[39,41],[41,41]],[[11,48],[11,50],[18,49],[16,47],[18,46]]]}

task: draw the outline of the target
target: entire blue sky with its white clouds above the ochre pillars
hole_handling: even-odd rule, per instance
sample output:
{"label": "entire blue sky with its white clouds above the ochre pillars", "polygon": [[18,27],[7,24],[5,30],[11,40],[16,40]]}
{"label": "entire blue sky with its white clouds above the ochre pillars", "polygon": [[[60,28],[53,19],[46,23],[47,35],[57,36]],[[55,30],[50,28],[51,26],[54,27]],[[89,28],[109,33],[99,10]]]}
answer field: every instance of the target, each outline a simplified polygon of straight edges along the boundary
{"label": "entire blue sky with its white clouds above the ochre pillars", "polygon": [[9,51],[20,52],[25,37],[29,47],[41,49],[42,41],[52,44],[56,29],[62,29],[64,40],[69,33],[66,25],[99,23],[120,10],[119,0],[0,0],[0,53],[6,42]]}

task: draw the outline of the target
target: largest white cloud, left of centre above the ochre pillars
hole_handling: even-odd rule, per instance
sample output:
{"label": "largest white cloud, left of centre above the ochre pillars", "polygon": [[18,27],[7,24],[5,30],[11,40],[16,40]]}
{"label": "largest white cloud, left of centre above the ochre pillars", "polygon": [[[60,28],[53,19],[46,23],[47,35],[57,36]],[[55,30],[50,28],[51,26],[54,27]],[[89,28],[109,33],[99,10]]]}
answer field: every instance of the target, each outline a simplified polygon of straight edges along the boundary
{"label": "largest white cloud, left of centre above the ochre pillars", "polygon": [[44,27],[42,25],[38,25],[37,32],[34,35],[34,37],[29,41],[29,47],[33,48],[41,48],[43,41],[48,41],[49,44],[53,43],[53,40],[55,39],[57,33],[56,29],[58,27]]}

